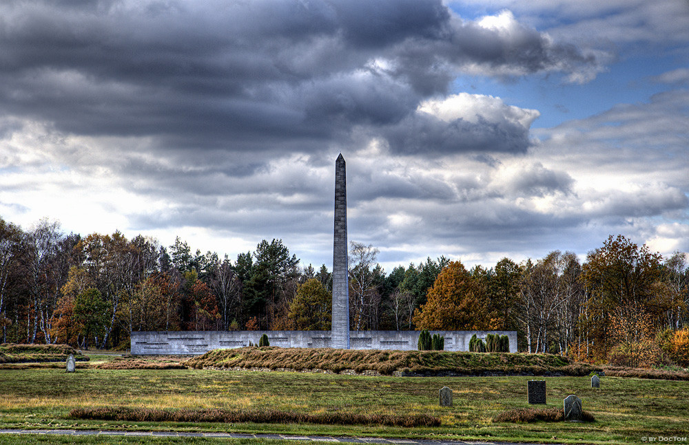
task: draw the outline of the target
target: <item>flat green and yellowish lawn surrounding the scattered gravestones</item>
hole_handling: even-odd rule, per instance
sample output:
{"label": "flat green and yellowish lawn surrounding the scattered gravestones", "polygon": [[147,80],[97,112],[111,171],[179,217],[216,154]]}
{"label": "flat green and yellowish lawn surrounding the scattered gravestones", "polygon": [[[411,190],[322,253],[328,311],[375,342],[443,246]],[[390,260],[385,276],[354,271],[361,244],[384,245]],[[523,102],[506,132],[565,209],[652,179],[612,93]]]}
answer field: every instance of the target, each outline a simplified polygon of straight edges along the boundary
{"label": "flat green and yellowish lawn surrounding the scattered gravestones", "polygon": [[[688,435],[689,410],[686,406],[689,384],[668,380],[605,377],[601,380],[601,389],[595,390],[590,388],[588,377],[548,377],[544,378],[548,389],[548,407],[562,406],[562,400],[574,393],[582,398],[584,409],[593,413],[596,422],[493,422],[493,417],[498,413],[528,406],[528,379],[373,377],[197,369],[79,369],[76,373],[53,368],[0,369],[0,428],[232,431],[589,444],[639,444],[641,437]],[[443,386],[453,389],[452,407],[438,406],[438,389]],[[307,423],[123,422],[68,418],[70,410],[74,408],[107,406],[235,411],[273,409],[296,413],[367,415],[426,413],[440,418],[441,424],[438,427],[404,428]],[[6,436],[1,440],[3,443],[25,443],[26,439]],[[64,443],[72,443],[75,438],[64,439]],[[36,440],[40,441],[41,438]],[[85,441],[79,443],[96,443],[89,442],[94,438],[79,440]],[[133,443],[123,437],[107,439],[106,442]],[[158,442],[154,438],[147,438],[145,442],[177,443],[174,440]],[[99,439],[97,443],[103,442]]]}

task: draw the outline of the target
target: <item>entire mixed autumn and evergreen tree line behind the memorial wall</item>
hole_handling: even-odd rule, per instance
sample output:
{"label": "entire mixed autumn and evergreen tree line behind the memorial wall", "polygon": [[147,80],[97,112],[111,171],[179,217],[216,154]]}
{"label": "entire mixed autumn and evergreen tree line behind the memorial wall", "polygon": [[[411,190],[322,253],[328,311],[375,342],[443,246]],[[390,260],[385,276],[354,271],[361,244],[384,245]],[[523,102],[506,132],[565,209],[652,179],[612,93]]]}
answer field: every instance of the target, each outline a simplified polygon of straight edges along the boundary
{"label": "entire mixed autumn and evergreen tree line behind the memorial wall", "polygon": [[[643,361],[670,354],[689,322],[686,254],[663,259],[621,235],[584,263],[554,251],[467,270],[439,257],[388,274],[377,257],[350,245],[351,329],[515,330],[522,351]],[[330,329],[331,291],[326,265],[300,265],[280,239],[229,259],[179,238],[0,218],[3,343],[124,348],[132,330]]]}

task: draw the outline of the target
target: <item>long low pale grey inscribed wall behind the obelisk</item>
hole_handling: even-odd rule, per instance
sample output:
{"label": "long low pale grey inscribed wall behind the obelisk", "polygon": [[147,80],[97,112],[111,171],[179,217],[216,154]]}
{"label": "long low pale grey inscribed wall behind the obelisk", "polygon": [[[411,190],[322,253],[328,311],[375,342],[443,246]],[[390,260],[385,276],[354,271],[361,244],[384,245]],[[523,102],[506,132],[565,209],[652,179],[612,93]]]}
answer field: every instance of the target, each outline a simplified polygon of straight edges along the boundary
{"label": "long low pale grey inscribed wall behind the obelisk", "polygon": [[[350,331],[350,349],[418,349],[419,331]],[[330,331],[151,331],[132,332],[134,355],[197,355],[212,349],[258,345],[263,334],[271,346],[330,347]],[[515,331],[431,331],[445,338],[446,351],[469,351],[473,334],[485,340],[486,334],[506,335],[510,352],[517,352]]]}

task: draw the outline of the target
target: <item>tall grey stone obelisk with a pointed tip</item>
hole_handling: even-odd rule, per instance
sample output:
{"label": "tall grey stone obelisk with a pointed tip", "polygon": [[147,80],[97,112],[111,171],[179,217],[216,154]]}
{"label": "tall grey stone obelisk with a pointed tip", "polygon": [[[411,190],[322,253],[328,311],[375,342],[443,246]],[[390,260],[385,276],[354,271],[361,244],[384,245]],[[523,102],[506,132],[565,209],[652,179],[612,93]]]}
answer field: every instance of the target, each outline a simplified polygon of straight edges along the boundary
{"label": "tall grey stone obelisk with a pointed tip", "polygon": [[333,330],[330,346],[349,349],[347,272],[347,180],[342,153],[335,162],[335,240],[333,241]]}

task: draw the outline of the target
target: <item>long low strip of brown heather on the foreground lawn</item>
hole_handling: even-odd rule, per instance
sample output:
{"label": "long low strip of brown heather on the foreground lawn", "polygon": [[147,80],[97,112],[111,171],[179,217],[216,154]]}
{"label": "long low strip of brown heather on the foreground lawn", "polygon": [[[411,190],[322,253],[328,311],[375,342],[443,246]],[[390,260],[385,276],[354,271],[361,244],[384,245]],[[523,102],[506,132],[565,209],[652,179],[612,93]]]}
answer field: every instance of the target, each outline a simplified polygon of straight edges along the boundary
{"label": "long low strip of brown heather on the foreground lawn", "polygon": [[155,408],[78,408],[70,411],[72,419],[124,420],[127,422],[253,422],[311,423],[327,425],[438,426],[440,419],[428,414],[385,415],[358,413],[296,413],[274,409],[155,409]]}

